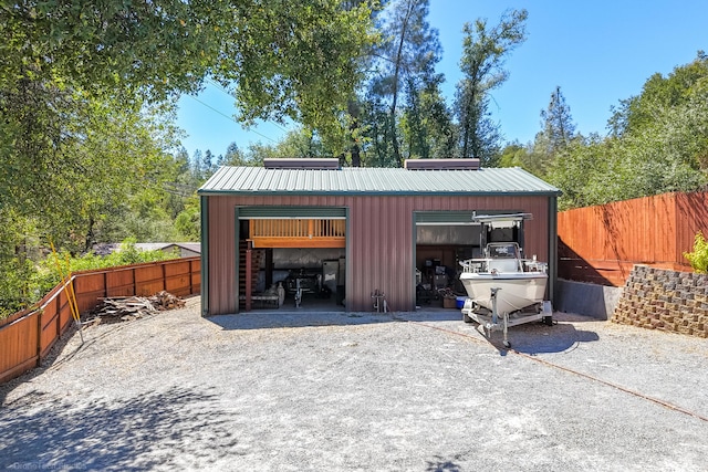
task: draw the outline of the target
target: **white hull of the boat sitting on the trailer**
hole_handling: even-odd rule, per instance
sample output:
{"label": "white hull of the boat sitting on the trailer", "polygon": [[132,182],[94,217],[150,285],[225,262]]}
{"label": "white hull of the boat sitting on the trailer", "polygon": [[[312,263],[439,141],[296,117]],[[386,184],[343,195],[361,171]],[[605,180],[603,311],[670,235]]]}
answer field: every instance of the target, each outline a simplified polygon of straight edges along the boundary
{"label": "white hull of the boat sitting on the trailer", "polygon": [[497,313],[511,314],[531,305],[542,304],[548,274],[534,272],[460,274],[467,295],[478,305],[492,311],[491,290],[497,292]]}

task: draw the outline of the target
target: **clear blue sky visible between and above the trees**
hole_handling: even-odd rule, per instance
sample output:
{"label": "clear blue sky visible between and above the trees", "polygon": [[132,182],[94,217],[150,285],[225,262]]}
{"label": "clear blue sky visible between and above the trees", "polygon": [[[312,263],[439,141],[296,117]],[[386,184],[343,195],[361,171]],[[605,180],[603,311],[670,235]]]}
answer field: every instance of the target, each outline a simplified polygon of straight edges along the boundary
{"label": "clear blue sky visible between and above the trees", "polygon": [[[708,51],[706,0],[430,0],[428,20],[442,45],[437,71],[446,77],[448,105],[460,80],[465,22],[486,18],[496,25],[504,10],[522,8],[529,11],[528,39],[507,59],[509,80],[492,93],[492,116],[507,141],[533,140],[555,86],[580,133],[604,134],[612,105],[638,95],[654,73],[666,75],[698,50]],[[211,84],[179,105],[177,124],[188,135],[183,145],[190,155],[195,149],[223,154],[232,141],[242,149],[274,144],[284,133],[271,123],[242,129],[228,118],[236,113],[231,98]]]}

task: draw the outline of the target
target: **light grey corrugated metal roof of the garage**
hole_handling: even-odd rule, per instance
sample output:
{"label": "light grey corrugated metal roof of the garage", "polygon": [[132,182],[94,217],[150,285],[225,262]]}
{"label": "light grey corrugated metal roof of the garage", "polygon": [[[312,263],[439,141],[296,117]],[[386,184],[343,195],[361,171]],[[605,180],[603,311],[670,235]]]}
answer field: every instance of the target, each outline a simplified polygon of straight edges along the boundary
{"label": "light grey corrugated metal roof of the garage", "polygon": [[479,170],[336,170],[221,167],[199,195],[548,195],[561,191],[518,167]]}

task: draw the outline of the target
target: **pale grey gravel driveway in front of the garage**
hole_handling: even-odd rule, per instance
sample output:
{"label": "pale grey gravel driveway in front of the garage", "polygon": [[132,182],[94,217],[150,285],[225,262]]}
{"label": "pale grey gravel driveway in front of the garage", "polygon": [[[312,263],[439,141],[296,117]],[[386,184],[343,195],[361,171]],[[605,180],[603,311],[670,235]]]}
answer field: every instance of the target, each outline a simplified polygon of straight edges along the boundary
{"label": "pale grey gravel driveway in front of the garage", "polygon": [[708,340],[457,311],[86,328],[0,387],[0,469],[704,471]]}

